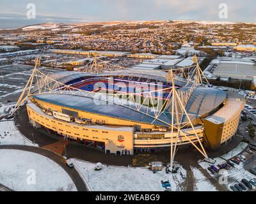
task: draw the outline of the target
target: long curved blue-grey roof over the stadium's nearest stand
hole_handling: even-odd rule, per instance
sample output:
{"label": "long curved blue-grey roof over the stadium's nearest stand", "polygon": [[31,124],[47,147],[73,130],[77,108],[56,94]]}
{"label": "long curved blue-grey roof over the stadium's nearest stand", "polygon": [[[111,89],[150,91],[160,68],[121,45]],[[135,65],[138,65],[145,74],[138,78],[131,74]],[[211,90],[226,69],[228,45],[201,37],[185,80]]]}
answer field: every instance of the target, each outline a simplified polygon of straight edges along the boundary
{"label": "long curved blue-grey roof over the stadium's nearest stand", "polygon": [[[76,110],[83,110],[85,112],[97,113],[99,115],[106,115],[108,117],[115,117],[125,120],[132,120],[136,122],[143,122],[147,124],[155,124],[166,126],[164,122],[171,122],[172,116],[169,112],[163,113],[159,116],[159,120],[154,118],[154,112],[148,112],[148,115],[141,113],[147,112],[146,107],[141,108],[141,112],[132,110],[133,107],[136,109],[135,105],[129,105],[131,108],[127,108],[121,105],[107,104],[106,101],[100,101],[95,98],[88,98],[84,96],[70,96],[67,94],[38,94],[34,95],[33,98],[40,101],[45,101],[47,103],[52,103],[55,105],[60,105],[67,108],[73,108]],[[150,117],[150,115],[152,117]],[[161,122],[163,120],[164,122]]]}

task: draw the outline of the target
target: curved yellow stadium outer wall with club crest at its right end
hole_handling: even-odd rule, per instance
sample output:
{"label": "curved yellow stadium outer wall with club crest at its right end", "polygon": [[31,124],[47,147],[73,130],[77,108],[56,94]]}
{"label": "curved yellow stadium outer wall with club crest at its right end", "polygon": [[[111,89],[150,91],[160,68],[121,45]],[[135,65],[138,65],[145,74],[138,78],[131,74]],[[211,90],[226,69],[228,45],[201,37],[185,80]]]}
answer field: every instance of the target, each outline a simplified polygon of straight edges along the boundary
{"label": "curved yellow stadium outer wall with club crest at its right end", "polygon": [[[133,128],[122,130],[122,128],[90,128],[89,126],[81,126],[72,122],[55,119],[54,117],[44,115],[33,110],[27,105],[29,120],[31,124],[36,126],[36,123],[44,126],[47,129],[52,129],[59,134],[68,136],[74,140],[93,140],[105,143],[105,150],[110,150],[111,153],[122,150],[129,150],[133,154]],[[92,126],[93,127],[93,126]],[[38,128],[38,127],[36,127]]]}

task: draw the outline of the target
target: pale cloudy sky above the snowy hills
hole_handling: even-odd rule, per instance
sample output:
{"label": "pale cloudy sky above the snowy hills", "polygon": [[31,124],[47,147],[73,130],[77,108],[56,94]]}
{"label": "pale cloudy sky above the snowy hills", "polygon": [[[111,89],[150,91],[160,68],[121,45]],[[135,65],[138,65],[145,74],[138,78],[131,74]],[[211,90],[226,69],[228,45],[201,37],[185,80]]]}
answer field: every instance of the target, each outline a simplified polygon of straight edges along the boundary
{"label": "pale cloudy sky above the snowy hills", "polygon": [[[0,20],[26,20],[28,3],[38,18],[76,18],[76,21],[109,20],[225,20],[256,22],[255,0],[0,0]],[[228,17],[219,18],[219,5],[227,4]],[[12,14],[17,16],[12,17]],[[18,16],[20,15],[20,16]],[[39,17],[40,16],[40,17]],[[15,18],[15,19],[14,19]],[[18,19],[17,19],[18,18]],[[67,20],[67,19],[66,19]]]}

